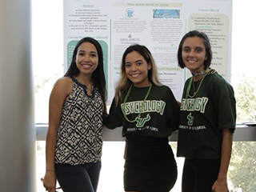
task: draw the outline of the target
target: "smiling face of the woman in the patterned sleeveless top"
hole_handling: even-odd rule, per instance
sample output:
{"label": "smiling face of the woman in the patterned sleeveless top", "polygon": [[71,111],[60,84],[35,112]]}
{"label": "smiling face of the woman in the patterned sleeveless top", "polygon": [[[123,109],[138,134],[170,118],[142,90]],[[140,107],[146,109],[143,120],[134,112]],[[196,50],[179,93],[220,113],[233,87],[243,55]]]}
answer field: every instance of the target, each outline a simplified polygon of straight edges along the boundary
{"label": "smiling face of the woman in the patterned sleeveless top", "polygon": [[83,42],[78,48],[75,62],[80,74],[91,77],[94,70],[98,67],[98,52],[94,44]]}

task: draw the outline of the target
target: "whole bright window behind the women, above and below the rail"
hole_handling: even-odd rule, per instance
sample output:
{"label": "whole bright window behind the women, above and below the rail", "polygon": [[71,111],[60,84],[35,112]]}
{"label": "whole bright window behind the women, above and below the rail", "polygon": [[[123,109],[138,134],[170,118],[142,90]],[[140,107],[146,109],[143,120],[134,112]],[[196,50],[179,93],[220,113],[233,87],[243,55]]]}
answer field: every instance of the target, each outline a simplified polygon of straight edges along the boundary
{"label": "whole bright window behind the women, above and below the rail", "polygon": [[[254,30],[251,29],[254,17],[250,17],[248,14],[254,13],[254,7],[255,2],[250,0],[233,2],[231,85],[234,87],[237,99],[238,124],[256,122],[256,74],[254,72],[256,65],[254,64],[253,48],[255,38]],[[248,16],[244,17],[245,15]],[[38,136],[44,140],[48,123],[50,91],[54,82],[64,74],[63,1],[33,0],[32,18],[35,117],[38,124],[46,124],[42,128],[44,129],[43,134]],[[173,146],[175,154],[176,142],[170,142],[170,145]],[[229,171],[230,192],[249,192],[256,188],[256,184],[254,184],[256,174],[253,169],[250,169],[253,166],[250,166],[250,163],[254,163],[254,165],[256,163],[255,149],[256,142],[234,142],[233,158]],[[122,191],[123,151],[124,142],[104,142],[98,192]],[[172,190],[174,192],[180,191],[183,158],[177,158],[177,162],[179,174],[178,181]],[[45,141],[38,141],[38,192],[45,191],[40,182],[40,178],[44,176],[44,171]],[[111,174],[109,174],[110,172]]]}

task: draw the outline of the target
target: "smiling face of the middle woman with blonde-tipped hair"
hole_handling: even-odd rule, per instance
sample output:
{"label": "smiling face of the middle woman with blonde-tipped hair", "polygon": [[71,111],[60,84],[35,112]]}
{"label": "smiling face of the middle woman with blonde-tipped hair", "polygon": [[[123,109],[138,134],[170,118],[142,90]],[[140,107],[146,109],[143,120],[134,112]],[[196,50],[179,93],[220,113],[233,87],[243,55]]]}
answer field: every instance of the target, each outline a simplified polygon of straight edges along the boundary
{"label": "smiling face of the middle woman with blonde-tipped hair", "polygon": [[125,59],[126,76],[134,83],[134,86],[144,87],[149,86],[148,71],[151,69],[151,64],[147,63],[145,58],[137,51],[132,51],[126,55]]}

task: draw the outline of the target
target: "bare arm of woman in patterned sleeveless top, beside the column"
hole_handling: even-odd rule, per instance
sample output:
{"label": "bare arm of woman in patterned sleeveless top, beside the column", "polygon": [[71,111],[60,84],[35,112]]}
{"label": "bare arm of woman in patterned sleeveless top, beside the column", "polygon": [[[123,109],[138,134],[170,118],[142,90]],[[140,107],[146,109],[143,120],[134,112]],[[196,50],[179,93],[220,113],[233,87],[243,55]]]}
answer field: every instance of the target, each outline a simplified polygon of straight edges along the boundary
{"label": "bare arm of woman in patterned sleeveless top, beside the column", "polygon": [[44,177],[44,186],[49,192],[55,192],[54,154],[58,126],[62,114],[62,106],[69,96],[72,87],[73,82],[70,78],[60,78],[50,94],[49,129],[46,136],[46,174]]}

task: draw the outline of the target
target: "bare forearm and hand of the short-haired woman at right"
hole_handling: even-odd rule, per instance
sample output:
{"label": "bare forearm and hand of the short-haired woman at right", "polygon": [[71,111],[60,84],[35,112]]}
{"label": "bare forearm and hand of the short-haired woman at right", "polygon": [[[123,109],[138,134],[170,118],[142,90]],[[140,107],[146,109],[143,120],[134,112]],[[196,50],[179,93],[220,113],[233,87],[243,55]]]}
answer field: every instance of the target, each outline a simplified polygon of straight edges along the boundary
{"label": "bare forearm and hand of the short-haired woman at right", "polygon": [[232,151],[232,142],[233,142],[233,133],[230,129],[226,128],[222,131],[222,157],[221,157],[221,165],[218,172],[218,179],[214,182],[214,186],[212,186],[212,190],[218,192],[228,192],[226,175],[230,165],[230,157]]}

